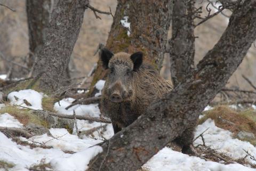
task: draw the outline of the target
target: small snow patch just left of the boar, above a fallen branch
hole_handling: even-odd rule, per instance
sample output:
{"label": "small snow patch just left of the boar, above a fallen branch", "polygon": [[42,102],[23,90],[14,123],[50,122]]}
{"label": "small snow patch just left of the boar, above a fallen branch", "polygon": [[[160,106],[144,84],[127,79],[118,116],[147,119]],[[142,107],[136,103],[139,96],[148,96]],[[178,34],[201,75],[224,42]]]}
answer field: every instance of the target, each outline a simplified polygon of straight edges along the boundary
{"label": "small snow patch just left of the boar, above a fallen branch", "polygon": [[66,115],[73,115],[73,110],[75,110],[76,115],[100,117],[98,104],[77,104],[66,110],[65,108],[72,104],[74,100],[72,98],[62,99],[54,104],[54,110]]}

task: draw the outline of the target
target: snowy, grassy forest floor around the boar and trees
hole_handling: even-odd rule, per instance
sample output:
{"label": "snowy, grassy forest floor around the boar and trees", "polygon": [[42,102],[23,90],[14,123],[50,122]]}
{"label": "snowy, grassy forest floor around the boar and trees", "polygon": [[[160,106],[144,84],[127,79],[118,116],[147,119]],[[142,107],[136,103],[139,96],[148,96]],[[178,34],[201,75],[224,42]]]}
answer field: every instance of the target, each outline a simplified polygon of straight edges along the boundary
{"label": "snowy, grassy forest floor around the boar and trees", "polygon": [[[98,84],[102,88],[103,82]],[[98,93],[100,95],[100,91]],[[28,128],[45,125],[33,118],[30,109],[46,110],[43,93],[31,89],[12,92],[9,102],[0,104],[0,128]],[[56,102],[55,112],[65,115],[100,117],[98,104],[75,105],[74,99]],[[14,136],[8,129],[0,132],[0,170],[85,170],[102,151],[97,144],[114,135],[111,124],[76,120],[73,130],[50,128],[46,133]],[[150,171],[252,171],[256,170],[256,107],[243,109],[235,105],[206,107],[199,117],[194,146],[200,157],[181,153],[169,144],[152,157],[141,170]],[[46,124],[47,125],[47,124]],[[27,129],[28,130],[28,129]],[[77,136],[77,130],[79,137]],[[73,132],[70,134],[70,132]]]}

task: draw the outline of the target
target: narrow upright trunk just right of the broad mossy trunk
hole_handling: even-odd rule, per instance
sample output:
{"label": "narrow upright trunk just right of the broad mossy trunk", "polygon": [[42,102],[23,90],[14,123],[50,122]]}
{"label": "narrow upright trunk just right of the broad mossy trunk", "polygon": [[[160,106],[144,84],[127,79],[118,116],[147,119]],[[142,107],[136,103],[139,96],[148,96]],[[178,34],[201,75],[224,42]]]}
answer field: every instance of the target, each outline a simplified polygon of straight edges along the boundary
{"label": "narrow upright trunk just right of the broad mossy trunk", "polygon": [[175,1],[172,14],[170,44],[171,79],[177,86],[193,72],[195,36],[193,11],[195,1]]}

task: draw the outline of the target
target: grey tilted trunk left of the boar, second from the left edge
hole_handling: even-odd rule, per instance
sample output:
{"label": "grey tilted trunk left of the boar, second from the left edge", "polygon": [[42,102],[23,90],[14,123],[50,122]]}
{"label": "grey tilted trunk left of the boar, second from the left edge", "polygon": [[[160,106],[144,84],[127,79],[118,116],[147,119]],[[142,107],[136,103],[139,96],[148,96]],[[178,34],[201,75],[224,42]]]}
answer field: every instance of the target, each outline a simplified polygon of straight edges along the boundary
{"label": "grey tilted trunk left of the boar, second from the left edge", "polygon": [[38,54],[33,75],[42,74],[39,88],[53,92],[60,86],[81,28],[89,1],[58,1],[46,30],[46,40]]}

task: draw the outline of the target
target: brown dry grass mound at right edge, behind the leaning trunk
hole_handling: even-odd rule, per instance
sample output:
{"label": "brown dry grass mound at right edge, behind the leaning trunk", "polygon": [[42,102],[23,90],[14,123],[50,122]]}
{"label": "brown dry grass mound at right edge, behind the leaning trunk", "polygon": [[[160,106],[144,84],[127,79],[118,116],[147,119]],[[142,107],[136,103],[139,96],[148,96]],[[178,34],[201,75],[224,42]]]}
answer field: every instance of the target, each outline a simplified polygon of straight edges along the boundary
{"label": "brown dry grass mound at right edge, behind the leaning trunk", "polygon": [[[199,120],[199,124],[211,118],[216,126],[233,132],[234,137],[237,137],[240,131],[250,132],[256,136],[256,113],[251,109],[235,111],[228,106],[220,105],[204,113],[205,116]],[[256,145],[256,140],[243,139],[243,141],[249,141],[251,144]]]}

